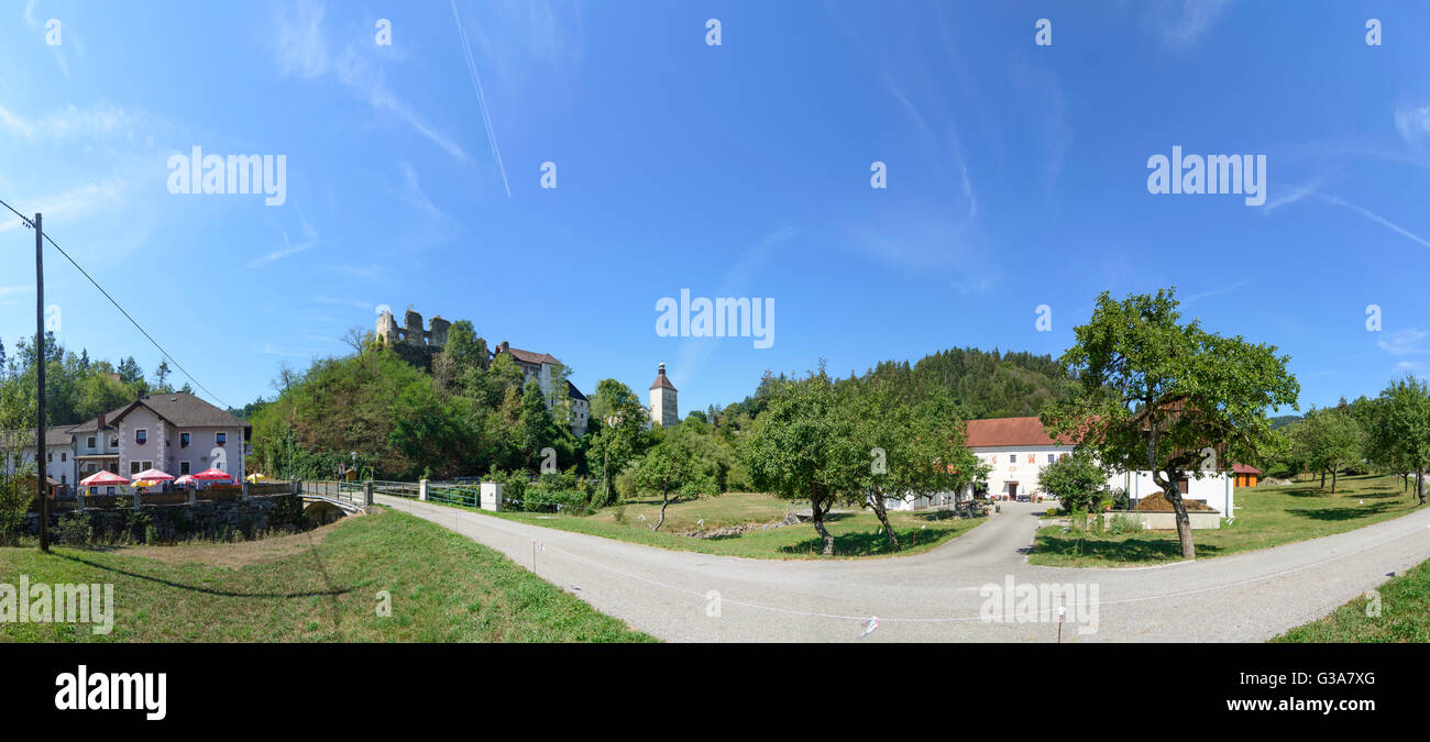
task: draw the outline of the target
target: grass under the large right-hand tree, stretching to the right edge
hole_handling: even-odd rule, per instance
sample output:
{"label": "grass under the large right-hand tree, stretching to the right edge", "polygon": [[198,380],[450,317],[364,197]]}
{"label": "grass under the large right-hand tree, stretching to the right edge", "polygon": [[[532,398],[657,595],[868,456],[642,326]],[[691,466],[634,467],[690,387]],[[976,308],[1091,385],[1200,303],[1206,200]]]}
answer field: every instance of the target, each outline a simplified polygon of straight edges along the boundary
{"label": "grass under the large right-hand tree, stretching to the right edge", "polygon": [[[1394,476],[1343,476],[1330,493],[1316,482],[1237,488],[1236,522],[1217,530],[1193,530],[1197,558],[1226,556],[1297,540],[1343,533],[1417,509]],[[1175,530],[1125,536],[1064,533],[1061,526],[1038,532],[1030,563],[1047,566],[1128,566],[1181,560]]]}

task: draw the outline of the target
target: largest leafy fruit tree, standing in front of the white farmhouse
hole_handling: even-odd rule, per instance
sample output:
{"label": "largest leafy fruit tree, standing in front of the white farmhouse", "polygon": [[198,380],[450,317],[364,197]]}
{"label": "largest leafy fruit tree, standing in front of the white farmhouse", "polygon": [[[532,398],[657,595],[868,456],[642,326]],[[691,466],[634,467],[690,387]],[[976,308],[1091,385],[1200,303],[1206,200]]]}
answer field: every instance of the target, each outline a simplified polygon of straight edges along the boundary
{"label": "largest leafy fruit tree, standing in front of the white farmhouse", "polygon": [[1042,425],[1107,466],[1151,472],[1177,512],[1183,558],[1194,559],[1178,482],[1204,476],[1207,449],[1218,468],[1260,460],[1274,446],[1267,410],[1294,407],[1300,385],[1276,346],[1180,319],[1175,289],[1123,302],[1103,292],[1060,359],[1074,379],[1068,397],[1044,409]]}

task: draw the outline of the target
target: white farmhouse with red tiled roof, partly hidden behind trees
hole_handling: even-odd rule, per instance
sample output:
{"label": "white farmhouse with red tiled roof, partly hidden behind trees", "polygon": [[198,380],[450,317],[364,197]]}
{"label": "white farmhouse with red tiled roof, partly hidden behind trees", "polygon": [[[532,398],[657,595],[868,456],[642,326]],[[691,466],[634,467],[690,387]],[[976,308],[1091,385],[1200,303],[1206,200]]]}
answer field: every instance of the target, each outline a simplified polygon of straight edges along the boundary
{"label": "white farmhouse with red tiled roof, partly hidden behind trees", "polygon": [[[1042,468],[1072,453],[1068,439],[1052,440],[1037,417],[994,417],[990,420],[968,420],[968,449],[990,468],[988,495],[1017,499],[1020,495],[1042,495],[1038,475]],[[1133,505],[1138,499],[1161,492],[1153,482],[1151,472],[1114,472],[1107,480],[1108,489],[1127,492]],[[1185,499],[1201,500],[1231,518],[1234,486],[1227,472],[1204,473],[1200,479],[1184,478],[1178,488]],[[971,496],[970,486],[964,496]],[[918,509],[931,505],[951,503],[948,495],[917,502],[889,499],[889,509]]]}

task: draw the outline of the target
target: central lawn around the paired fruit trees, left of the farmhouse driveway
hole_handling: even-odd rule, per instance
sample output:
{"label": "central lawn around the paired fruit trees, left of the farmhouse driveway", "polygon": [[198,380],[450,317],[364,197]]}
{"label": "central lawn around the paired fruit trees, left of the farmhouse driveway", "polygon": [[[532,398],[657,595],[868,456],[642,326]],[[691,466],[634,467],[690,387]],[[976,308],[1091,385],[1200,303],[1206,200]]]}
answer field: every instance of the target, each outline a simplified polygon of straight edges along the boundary
{"label": "central lawn around the paired fruit trees, left of the farmhouse driveway", "polygon": [[[450,508],[460,506],[452,505]],[[651,530],[651,526],[661,518],[661,500],[626,502],[625,523],[616,522],[618,508],[606,508],[589,516],[476,512],[533,526],[556,528],[662,549],[748,556],[754,559],[825,559],[819,553],[824,549],[824,543],[808,522],[712,539],[679,535],[684,530],[698,529],[702,518],[705,519],[705,529],[716,529],[738,523],[779,520],[791,509],[795,509],[795,505],[771,495],[731,492],[715,498],[676,502],[666,508],[665,523],[658,532]],[[645,515],[644,522],[641,520],[642,515]],[[899,543],[904,546],[899,552],[895,552],[889,546],[885,535],[879,532],[878,519],[871,512],[829,513],[825,525],[829,533],[834,535],[834,555],[837,558],[865,558],[925,552],[948,539],[967,533],[984,520],[987,519],[961,520],[950,518],[948,513],[934,512],[891,512],[889,523],[894,526],[894,532],[898,533]]]}

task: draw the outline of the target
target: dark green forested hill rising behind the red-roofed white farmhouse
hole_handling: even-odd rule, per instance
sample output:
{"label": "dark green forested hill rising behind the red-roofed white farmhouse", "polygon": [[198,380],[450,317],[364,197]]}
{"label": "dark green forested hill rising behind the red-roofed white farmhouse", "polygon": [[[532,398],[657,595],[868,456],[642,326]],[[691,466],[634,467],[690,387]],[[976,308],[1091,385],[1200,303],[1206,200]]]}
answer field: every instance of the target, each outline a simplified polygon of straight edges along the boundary
{"label": "dark green forested hill rising behind the red-roofed white farmhouse", "polygon": [[1052,356],[977,347],[938,350],[912,366],[907,360],[885,360],[871,373],[894,379],[914,396],[925,389],[948,389],[972,419],[1038,415],[1057,395],[1061,379]]}

